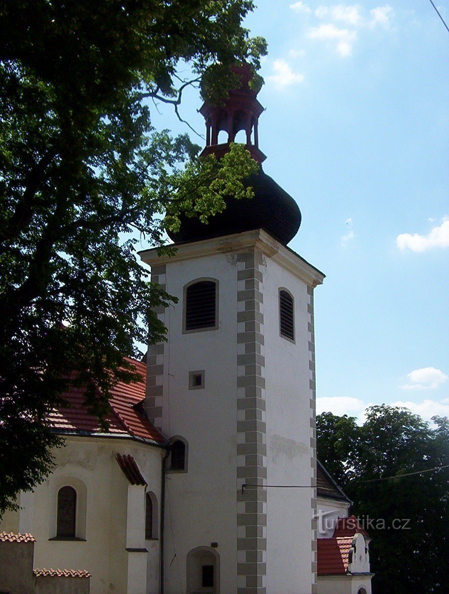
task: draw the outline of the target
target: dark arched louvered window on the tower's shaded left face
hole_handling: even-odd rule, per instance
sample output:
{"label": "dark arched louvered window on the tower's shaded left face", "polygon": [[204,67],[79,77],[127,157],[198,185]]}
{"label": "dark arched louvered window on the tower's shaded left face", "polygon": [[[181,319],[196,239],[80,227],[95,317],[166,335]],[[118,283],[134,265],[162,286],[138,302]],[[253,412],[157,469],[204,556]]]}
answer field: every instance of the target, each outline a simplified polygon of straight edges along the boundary
{"label": "dark arched louvered window on the tower's shaded left face", "polygon": [[186,289],[185,330],[216,327],[216,282],[199,280]]}

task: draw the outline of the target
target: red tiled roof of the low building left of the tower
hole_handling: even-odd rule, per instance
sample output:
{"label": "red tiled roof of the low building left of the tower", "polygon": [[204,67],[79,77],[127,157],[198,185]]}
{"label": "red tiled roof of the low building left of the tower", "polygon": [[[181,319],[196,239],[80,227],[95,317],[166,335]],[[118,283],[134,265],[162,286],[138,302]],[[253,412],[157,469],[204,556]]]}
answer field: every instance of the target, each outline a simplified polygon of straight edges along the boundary
{"label": "red tiled roof of the low building left of the tower", "polygon": [[[141,380],[132,384],[119,382],[112,388],[112,397],[109,400],[111,410],[106,417],[109,425],[107,434],[130,435],[158,444],[166,444],[165,437],[139,412],[137,406],[145,399],[147,366],[135,359],[127,358],[127,360],[135,366],[136,371],[141,375]],[[69,406],[59,407],[50,413],[49,420],[53,429],[60,433],[99,434],[104,432],[100,428],[98,419],[85,409],[84,393],[82,388],[74,388],[62,394]]]}

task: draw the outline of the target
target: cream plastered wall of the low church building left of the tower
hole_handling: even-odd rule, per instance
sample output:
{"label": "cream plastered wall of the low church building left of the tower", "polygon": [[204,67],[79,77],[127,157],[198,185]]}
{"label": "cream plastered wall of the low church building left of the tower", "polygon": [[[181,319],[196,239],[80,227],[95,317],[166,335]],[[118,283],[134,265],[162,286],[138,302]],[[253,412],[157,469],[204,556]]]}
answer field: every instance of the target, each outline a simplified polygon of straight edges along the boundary
{"label": "cream plastered wall of the low church building left of the tower", "polygon": [[[159,449],[131,440],[69,437],[65,447],[55,450],[55,470],[28,495],[27,507],[19,514],[21,530],[30,532],[36,539],[34,567],[88,570],[92,576],[91,592],[95,594],[111,592],[111,584],[115,592],[126,593],[128,588],[126,520],[129,482],[114,458],[116,453],[131,454],[135,458],[148,482],[148,489],[160,500]],[[56,536],[57,497],[63,485],[71,485],[77,490],[77,536],[81,533],[79,538],[85,538],[85,541],[49,540]],[[24,501],[21,498],[21,502]],[[141,526],[144,531],[145,516]],[[2,522],[0,530],[5,528]],[[158,568],[158,542],[154,545],[145,557],[148,565]],[[148,586],[157,591],[157,584],[156,573],[151,576]]]}

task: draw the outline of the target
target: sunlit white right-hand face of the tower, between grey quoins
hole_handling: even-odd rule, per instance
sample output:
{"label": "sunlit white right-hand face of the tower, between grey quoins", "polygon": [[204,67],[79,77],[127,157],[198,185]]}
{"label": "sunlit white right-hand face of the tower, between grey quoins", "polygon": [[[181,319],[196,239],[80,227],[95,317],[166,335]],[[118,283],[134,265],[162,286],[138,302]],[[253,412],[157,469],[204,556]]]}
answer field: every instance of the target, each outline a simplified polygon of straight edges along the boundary
{"label": "sunlit white right-hand face of the tower, between grey quoins", "polygon": [[[295,343],[279,333],[279,289],[294,297]],[[265,321],[267,467],[269,485],[310,485],[310,388],[307,285],[266,258]],[[311,592],[309,488],[268,488],[267,592]]]}

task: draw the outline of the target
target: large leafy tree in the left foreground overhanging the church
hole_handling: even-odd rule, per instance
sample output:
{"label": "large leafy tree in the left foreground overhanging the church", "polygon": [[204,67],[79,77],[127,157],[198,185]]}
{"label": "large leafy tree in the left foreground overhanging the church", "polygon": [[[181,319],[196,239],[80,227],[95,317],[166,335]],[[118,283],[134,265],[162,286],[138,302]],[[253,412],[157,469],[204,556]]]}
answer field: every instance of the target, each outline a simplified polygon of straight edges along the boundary
{"label": "large leafy tree in the left foreground overhanging the church", "polygon": [[[72,384],[103,418],[123,357],[164,336],[170,297],[136,260],[177,213],[205,220],[256,163],[241,147],[198,161],[151,127],[198,84],[217,100],[265,53],[251,0],[5,0],[0,7],[0,515],[41,481],[58,445],[46,413]],[[177,74],[189,64],[192,80]],[[257,81],[257,77],[255,79]],[[164,219],[164,213],[166,218]]]}

